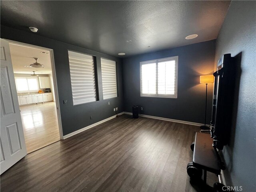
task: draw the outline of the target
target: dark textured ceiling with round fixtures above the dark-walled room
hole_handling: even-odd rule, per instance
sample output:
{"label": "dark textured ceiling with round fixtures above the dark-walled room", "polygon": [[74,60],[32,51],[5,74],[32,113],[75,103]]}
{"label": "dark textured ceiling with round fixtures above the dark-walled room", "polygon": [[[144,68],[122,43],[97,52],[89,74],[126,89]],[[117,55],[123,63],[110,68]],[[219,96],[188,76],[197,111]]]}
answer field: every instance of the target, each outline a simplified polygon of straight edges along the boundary
{"label": "dark textured ceiling with round fixtures above the dark-walled room", "polygon": [[[28,26],[34,26],[41,36],[114,56],[119,52],[130,56],[217,38],[229,4],[230,1],[1,1],[1,24],[28,32]],[[190,34],[198,34],[198,38],[186,40]]]}

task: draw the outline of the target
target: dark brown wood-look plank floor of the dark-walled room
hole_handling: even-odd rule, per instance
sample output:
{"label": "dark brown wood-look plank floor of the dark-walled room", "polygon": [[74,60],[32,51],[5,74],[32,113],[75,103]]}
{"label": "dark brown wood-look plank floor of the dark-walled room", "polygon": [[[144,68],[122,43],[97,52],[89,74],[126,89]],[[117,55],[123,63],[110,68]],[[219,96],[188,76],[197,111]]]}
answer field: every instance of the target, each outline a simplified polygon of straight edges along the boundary
{"label": "dark brown wood-look plank floor of the dark-walled room", "polygon": [[1,175],[1,192],[202,191],[186,173],[198,131],[122,115],[28,154]]}

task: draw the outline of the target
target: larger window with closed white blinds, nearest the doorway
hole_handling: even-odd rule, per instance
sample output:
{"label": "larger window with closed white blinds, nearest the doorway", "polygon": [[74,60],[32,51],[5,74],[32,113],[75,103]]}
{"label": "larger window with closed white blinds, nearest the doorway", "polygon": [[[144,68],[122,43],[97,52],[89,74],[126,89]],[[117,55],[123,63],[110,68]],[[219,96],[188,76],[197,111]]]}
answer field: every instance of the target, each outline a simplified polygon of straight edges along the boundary
{"label": "larger window with closed white blinds, nearest the doorway", "polygon": [[73,104],[97,100],[94,57],[68,51]]}

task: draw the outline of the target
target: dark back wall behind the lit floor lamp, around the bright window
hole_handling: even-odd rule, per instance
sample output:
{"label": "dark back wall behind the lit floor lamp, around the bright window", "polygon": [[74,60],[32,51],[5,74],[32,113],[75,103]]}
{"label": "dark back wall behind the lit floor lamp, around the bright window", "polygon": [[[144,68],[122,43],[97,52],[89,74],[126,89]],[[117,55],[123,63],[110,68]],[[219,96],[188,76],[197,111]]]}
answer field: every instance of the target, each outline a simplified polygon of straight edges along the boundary
{"label": "dark back wall behind the lit floor lamp, around the bright window", "polygon": [[[140,62],[178,56],[178,98],[140,97]],[[191,44],[123,59],[124,111],[132,105],[143,107],[140,113],[204,123],[205,84],[200,75],[214,71],[215,40]],[[208,84],[207,124],[210,123],[213,84]]]}

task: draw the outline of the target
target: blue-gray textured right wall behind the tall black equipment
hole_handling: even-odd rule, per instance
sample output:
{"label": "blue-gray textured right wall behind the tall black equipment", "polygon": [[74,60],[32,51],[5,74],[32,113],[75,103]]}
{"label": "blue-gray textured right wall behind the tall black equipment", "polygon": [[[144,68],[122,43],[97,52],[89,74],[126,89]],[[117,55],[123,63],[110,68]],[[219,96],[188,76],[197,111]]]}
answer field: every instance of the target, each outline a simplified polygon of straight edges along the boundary
{"label": "blue-gray textured right wall behind the tall black equipment", "polygon": [[231,139],[224,147],[223,155],[228,184],[242,186],[246,192],[256,190],[255,10],[255,1],[232,1],[216,42],[216,60],[226,53],[241,60],[236,80]]}

